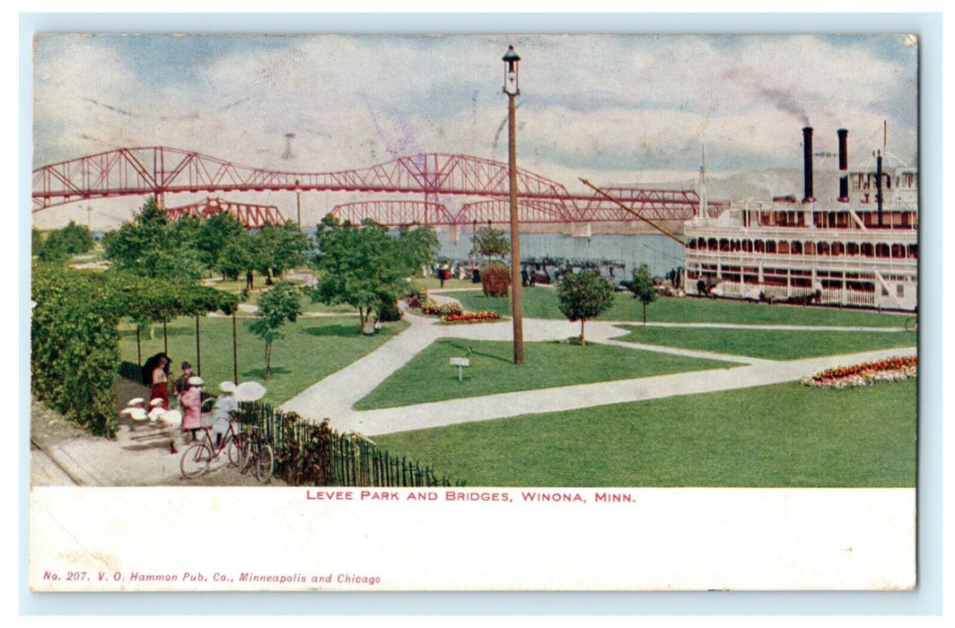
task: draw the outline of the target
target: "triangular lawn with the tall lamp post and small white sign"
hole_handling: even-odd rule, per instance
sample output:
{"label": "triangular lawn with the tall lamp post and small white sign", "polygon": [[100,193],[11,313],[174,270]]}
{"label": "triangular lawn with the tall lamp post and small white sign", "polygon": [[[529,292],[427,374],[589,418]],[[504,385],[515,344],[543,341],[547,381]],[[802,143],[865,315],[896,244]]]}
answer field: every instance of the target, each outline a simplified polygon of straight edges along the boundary
{"label": "triangular lawn with the tall lamp post and small white sign", "polygon": [[[474,348],[464,381],[452,357]],[[356,409],[393,408],[490,393],[606,382],[665,373],[737,366],[619,346],[527,343],[524,364],[515,366],[510,342],[439,339],[355,404]]]}

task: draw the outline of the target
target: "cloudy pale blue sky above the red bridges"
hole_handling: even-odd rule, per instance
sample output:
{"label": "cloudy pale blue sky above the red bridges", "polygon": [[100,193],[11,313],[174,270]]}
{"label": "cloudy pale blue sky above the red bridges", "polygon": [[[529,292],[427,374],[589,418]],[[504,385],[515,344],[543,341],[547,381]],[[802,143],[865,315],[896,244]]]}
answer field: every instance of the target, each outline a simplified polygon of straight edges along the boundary
{"label": "cloudy pale blue sky above the red bridges", "polygon": [[58,34],[34,39],[33,167],[153,145],[295,172],[506,161],[508,44],[519,165],[571,191],[690,180],[704,145],[713,177],[800,168],[806,124],[817,153],[849,129],[856,165],[885,121],[916,162],[918,46],[901,34]]}

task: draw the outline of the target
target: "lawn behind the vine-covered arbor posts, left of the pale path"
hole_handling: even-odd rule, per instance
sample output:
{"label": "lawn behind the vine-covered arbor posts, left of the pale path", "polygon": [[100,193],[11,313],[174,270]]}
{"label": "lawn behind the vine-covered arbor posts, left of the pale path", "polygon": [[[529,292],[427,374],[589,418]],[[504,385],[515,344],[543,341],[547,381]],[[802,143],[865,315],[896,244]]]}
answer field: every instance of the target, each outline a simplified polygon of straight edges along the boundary
{"label": "lawn behind the vine-covered arbor posts, left of the pale path", "polygon": [[[238,320],[239,379],[257,380],[268,388],[265,402],[281,404],[329,374],[391,340],[407,328],[399,321],[386,323],[374,336],[358,334],[354,317],[299,318],[283,328],[286,337],[272,345],[272,376],[265,382],[265,343],[248,331],[251,318]],[[169,355],[173,360],[173,376],[179,377],[180,363],[186,360],[194,369],[196,360],[196,321],[180,318],[169,324]],[[141,335],[142,359],[162,350],[162,325],[154,328],[154,338]],[[123,360],[137,362],[136,330],[122,330],[119,349]],[[231,380],[232,319],[203,317],[200,320],[202,379],[213,394],[219,383]]]}

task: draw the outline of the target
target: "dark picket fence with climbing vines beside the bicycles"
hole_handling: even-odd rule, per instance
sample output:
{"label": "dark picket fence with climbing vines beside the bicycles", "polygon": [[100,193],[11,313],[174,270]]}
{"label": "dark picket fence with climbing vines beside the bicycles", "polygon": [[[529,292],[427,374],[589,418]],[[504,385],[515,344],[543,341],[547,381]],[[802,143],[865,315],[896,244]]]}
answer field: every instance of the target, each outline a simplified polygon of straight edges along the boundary
{"label": "dark picket fence with climbing vines beside the bicycles", "polygon": [[342,434],[328,421],[308,423],[267,404],[241,404],[240,423],[263,429],[275,450],[276,474],[295,486],[463,486],[432,467],[378,449],[358,434]]}

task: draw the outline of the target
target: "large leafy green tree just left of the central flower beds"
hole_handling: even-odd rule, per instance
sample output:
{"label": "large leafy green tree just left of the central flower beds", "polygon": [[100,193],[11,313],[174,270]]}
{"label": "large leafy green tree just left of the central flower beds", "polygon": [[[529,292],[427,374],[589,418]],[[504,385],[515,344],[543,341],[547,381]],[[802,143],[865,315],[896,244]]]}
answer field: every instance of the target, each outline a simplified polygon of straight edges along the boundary
{"label": "large leafy green tree just left of the central flower beds", "polygon": [[371,220],[361,226],[323,220],[312,259],[318,274],[312,300],[357,308],[359,332],[367,333],[371,311],[383,300],[396,300],[411,269],[431,259],[426,247],[405,244]]}

